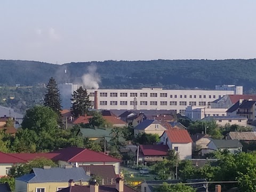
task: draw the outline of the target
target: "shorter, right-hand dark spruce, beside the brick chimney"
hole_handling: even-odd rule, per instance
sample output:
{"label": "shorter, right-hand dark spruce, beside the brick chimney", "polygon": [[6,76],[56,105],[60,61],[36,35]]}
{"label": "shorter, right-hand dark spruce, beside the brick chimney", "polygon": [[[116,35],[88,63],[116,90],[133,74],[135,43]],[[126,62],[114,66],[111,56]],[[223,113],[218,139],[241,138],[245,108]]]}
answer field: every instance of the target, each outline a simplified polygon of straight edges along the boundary
{"label": "shorter, right-hand dark spruce, beside the brick chimney", "polygon": [[79,87],[78,90],[73,92],[71,113],[74,117],[84,116],[91,108],[91,101],[86,89]]}

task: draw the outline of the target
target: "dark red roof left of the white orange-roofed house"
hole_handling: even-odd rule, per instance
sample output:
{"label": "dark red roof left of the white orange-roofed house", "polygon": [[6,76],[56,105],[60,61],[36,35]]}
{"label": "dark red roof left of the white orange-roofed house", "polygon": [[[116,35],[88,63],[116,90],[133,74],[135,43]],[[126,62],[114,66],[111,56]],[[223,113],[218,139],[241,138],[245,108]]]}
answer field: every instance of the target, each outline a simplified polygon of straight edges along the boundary
{"label": "dark red roof left of the white orange-roofed house", "polygon": [[139,147],[145,156],[166,156],[169,150],[167,145],[140,145]]}

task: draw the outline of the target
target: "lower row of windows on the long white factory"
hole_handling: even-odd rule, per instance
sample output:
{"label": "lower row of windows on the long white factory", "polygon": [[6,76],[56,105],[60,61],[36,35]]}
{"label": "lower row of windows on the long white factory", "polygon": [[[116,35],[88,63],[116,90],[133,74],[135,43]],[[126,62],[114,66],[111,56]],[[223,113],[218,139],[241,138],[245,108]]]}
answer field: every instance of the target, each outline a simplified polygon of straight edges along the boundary
{"label": "lower row of windows on the long white factory", "polygon": [[[160,101],[159,102],[161,106],[167,106],[167,101]],[[93,104],[93,103],[92,103]],[[107,101],[100,101],[100,105],[108,105]],[[110,105],[117,105],[117,101],[110,101]],[[128,105],[127,101],[120,101],[120,105],[125,106]],[[134,105],[134,101],[130,101],[130,105]],[[135,105],[138,105],[137,101]],[[148,105],[148,101],[140,101],[140,105]],[[150,101],[149,105],[151,106],[157,106],[157,101]],[[170,106],[177,106],[177,101],[170,101]],[[187,101],[179,101],[180,106],[187,106]],[[205,101],[199,101],[199,106],[206,106]],[[189,101],[189,106],[196,106],[196,101]]]}

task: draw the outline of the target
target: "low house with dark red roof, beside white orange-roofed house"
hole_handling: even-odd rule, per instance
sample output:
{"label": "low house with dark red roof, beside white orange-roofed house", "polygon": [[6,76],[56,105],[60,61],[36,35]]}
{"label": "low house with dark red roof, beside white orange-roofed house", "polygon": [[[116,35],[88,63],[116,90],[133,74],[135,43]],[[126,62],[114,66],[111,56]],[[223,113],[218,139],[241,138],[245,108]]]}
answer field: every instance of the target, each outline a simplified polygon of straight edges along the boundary
{"label": "low house with dark red roof, beside white orange-roofed house", "polygon": [[167,156],[168,150],[169,147],[167,145],[140,145],[139,161],[143,163],[163,161]]}

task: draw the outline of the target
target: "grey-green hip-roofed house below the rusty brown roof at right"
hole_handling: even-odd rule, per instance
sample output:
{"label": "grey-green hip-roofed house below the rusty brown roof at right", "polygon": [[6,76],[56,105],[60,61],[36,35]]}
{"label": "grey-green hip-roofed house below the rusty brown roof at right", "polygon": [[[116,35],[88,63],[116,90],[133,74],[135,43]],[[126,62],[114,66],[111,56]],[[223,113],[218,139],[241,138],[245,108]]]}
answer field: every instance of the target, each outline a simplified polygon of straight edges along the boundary
{"label": "grey-green hip-roofed house below the rusty brown roof at right", "polygon": [[212,139],[207,145],[210,150],[228,150],[231,154],[242,152],[243,145],[239,140]]}

